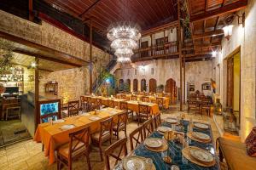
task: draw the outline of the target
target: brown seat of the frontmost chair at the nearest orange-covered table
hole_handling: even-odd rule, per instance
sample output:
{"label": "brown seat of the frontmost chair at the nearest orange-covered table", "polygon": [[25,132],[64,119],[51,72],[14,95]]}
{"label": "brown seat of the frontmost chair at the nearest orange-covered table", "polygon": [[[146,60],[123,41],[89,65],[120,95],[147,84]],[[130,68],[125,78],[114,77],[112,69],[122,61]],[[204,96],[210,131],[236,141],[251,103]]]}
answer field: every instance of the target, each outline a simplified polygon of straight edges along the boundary
{"label": "brown seat of the frontmost chair at the nearest orange-covered table", "polygon": [[[73,146],[75,144],[77,144],[77,143],[78,143],[78,140],[74,140],[73,141]],[[76,146],[76,148],[79,148],[82,145],[84,145],[84,143],[79,142],[79,144]],[[86,147],[84,146],[84,147],[80,148],[79,150],[74,151],[72,153],[72,156],[73,157],[78,156],[79,154],[83,153],[85,150],[86,150]],[[58,149],[58,152],[59,152],[59,154],[61,156],[64,156],[64,157],[68,158],[68,155],[69,155],[69,143],[61,145],[61,147],[59,147],[59,149]]]}

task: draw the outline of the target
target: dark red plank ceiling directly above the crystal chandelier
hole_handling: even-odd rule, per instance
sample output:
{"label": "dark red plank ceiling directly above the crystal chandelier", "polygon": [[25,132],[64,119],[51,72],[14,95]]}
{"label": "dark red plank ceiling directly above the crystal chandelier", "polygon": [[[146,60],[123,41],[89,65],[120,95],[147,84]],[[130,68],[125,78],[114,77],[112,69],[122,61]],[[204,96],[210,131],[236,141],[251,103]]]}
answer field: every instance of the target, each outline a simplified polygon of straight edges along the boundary
{"label": "dark red plank ceiling directly above the crystal chandelier", "polygon": [[92,18],[92,25],[106,36],[108,26],[137,22],[143,30],[177,20],[177,0],[44,0],[79,20]]}

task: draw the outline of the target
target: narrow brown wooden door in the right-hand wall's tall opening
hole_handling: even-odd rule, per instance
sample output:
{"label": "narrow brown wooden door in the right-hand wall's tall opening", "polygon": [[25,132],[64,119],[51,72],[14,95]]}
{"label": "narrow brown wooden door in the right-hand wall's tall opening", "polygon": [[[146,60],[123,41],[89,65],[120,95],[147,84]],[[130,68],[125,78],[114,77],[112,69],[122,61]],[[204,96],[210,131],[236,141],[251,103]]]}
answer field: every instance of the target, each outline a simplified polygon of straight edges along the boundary
{"label": "narrow brown wooden door in the right-hand wall's tall opening", "polygon": [[227,60],[227,107],[233,107],[234,92],[234,58]]}

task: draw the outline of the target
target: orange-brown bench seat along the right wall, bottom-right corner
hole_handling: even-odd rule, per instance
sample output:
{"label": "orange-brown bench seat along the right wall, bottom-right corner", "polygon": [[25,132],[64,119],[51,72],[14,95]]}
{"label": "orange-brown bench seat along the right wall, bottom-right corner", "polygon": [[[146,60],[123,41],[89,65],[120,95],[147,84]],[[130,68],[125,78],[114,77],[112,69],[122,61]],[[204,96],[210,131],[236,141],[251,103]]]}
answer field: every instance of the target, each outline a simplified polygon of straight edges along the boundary
{"label": "orange-brown bench seat along the right wall, bottom-right corner", "polygon": [[217,139],[220,161],[226,161],[231,170],[255,170],[256,157],[247,156],[245,144],[232,139]]}

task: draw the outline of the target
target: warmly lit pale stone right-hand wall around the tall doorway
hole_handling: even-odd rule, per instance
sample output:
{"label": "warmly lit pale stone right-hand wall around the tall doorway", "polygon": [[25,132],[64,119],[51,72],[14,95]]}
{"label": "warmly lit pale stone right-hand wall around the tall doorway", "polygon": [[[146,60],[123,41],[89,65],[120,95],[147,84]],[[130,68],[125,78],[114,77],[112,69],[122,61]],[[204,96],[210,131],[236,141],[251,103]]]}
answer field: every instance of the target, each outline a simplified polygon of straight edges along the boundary
{"label": "warmly lit pale stone right-hand wall around the tall doorway", "polygon": [[[216,58],[215,65],[219,65],[216,74],[218,94],[223,105],[226,105],[226,58],[236,48],[241,48],[241,140],[246,139],[252,127],[255,126],[255,66],[256,66],[256,2],[248,0],[247,8],[239,11],[246,14],[245,27],[233,21],[233,33],[230,40],[223,39],[222,51]],[[218,66],[216,66],[218,68]],[[220,78],[219,78],[220,77]]]}

